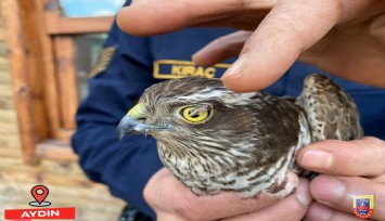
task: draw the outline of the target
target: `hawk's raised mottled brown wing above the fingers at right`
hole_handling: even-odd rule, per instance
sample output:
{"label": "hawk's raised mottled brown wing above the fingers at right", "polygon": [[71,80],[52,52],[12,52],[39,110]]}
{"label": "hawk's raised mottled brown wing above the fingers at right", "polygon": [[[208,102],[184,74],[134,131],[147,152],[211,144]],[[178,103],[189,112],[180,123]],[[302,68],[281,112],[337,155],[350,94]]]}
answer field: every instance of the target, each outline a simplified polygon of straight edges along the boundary
{"label": "hawk's raised mottled brown wing above the fingers at right", "polygon": [[354,100],[325,76],[309,75],[295,103],[307,114],[313,141],[348,141],[363,135]]}

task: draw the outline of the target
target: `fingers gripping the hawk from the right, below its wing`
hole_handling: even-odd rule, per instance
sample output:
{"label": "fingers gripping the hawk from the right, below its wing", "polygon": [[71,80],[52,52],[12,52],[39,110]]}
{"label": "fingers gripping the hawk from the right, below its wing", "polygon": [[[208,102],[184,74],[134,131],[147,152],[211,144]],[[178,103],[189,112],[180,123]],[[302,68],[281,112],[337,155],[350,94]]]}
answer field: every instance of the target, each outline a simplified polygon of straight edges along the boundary
{"label": "fingers gripping the hawk from the right, below its wing", "polygon": [[385,220],[384,160],[385,142],[374,138],[321,141],[300,150],[298,165],[322,173],[310,182],[315,202],[306,219],[360,220],[354,216],[352,196],[374,195],[375,209],[371,218]]}

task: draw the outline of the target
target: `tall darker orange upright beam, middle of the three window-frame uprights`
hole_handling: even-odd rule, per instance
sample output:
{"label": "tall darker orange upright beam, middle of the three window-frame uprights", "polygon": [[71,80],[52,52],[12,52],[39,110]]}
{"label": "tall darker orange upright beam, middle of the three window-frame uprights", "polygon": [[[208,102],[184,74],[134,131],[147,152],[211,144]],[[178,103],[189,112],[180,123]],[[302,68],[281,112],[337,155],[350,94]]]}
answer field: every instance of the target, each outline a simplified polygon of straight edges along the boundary
{"label": "tall darker orange upright beam, middle of the three window-frame uprights", "polygon": [[24,41],[28,51],[29,84],[34,90],[33,108],[39,128],[38,142],[55,136],[60,129],[57,79],[55,76],[53,49],[46,31],[43,0],[18,0],[23,21]]}

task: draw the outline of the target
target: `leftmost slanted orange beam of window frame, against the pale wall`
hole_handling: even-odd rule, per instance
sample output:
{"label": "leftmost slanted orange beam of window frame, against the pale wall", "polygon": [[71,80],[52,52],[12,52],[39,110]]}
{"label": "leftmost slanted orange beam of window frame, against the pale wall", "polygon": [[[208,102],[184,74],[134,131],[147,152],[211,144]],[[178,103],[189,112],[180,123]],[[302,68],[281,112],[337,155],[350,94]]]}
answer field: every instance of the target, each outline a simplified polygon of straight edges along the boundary
{"label": "leftmost slanted orange beam of window frame, against the pale wall", "polygon": [[9,47],[9,58],[12,72],[12,84],[15,106],[18,118],[18,129],[21,134],[24,161],[29,165],[37,165],[39,158],[36,155],[35,145],[37,143],[37,128],[33,112],[33,89],[28,79],[28,62],[23,41],[23,24],[21,21],[21,10],[18,1],[1,0],[0,10],[4,16],[5,42]]}

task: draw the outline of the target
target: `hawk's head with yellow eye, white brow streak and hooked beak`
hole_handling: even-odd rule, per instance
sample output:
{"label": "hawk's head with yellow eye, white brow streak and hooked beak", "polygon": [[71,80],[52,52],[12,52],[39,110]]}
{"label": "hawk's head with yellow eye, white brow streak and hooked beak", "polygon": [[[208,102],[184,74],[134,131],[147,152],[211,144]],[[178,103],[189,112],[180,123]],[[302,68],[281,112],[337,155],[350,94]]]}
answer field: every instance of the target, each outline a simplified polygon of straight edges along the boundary
{"label": "hawk's head with yellow eye, white brow streak and hooked beak", "polygon": [[181,78],[154,84],[121,119],[117,133],[153,135],[174,148],[218,150],[249,142],[256,121],[247,105],[258,92],[234,93],[218,79]]}

